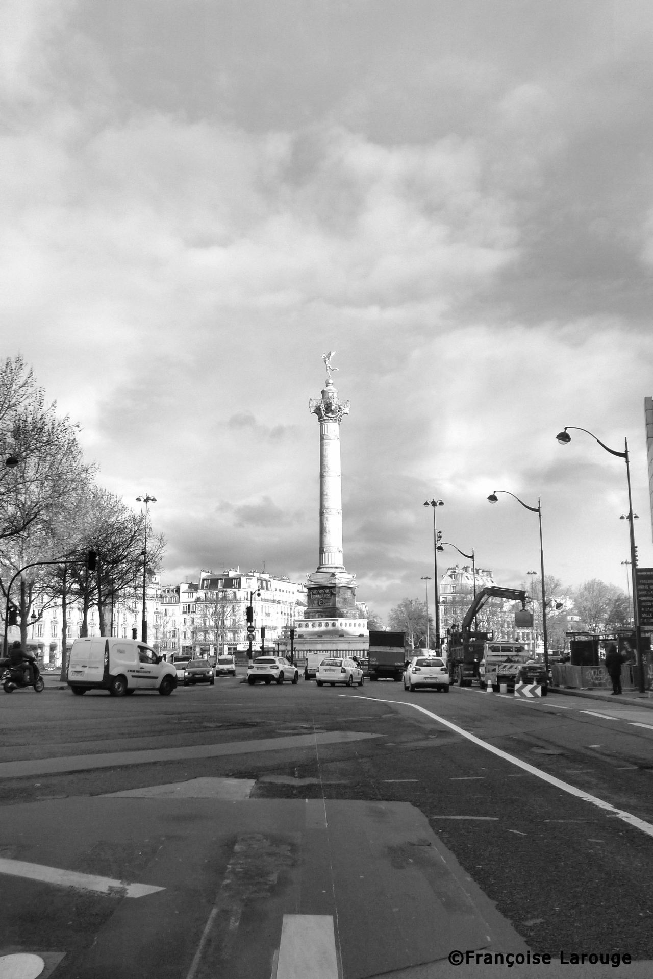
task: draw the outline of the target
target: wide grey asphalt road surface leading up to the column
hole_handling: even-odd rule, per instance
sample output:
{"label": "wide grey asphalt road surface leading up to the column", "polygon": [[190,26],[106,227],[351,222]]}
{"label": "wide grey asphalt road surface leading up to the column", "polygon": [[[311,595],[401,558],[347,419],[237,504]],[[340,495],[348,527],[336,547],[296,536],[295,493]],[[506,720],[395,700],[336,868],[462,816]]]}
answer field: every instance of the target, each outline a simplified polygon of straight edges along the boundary
{"label": "wide grey asphalt road surface leading up to the column", "polygon": [[[163,887],[129,901],[1,874],[11,910],[0,956],[40,950],[63,979],[103,968],[267,979],[281,917],[296,908],[334,916],[344,979],[448,975],[454,942],[627,954],[641,975],[653,960],[644,707],[224,677],[169,698],[50,686],[4,696],[0,710],[0,857]],[[210,798],[215,779],[231,781]],[[148,797],[169,785],[165,798]],[[225,799],[227,789],[236,796]],[[145,797],[106,798],[129,790]]]}

